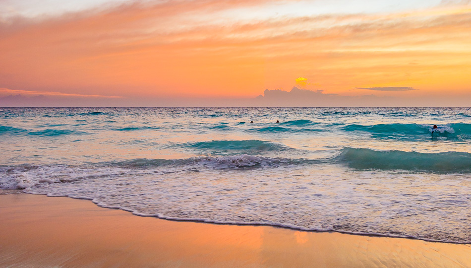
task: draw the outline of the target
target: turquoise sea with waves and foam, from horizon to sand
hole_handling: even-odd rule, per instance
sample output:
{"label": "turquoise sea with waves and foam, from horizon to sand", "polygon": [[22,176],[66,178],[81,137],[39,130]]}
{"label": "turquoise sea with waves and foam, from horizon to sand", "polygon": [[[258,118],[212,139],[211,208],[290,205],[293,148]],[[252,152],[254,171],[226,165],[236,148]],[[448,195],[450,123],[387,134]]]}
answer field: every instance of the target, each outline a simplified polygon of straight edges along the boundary
{"label": "turquoise sea with waves and foam, from horizon to sand", "polygon": [[0,189],[471,243],[471,108],[0,108]]}

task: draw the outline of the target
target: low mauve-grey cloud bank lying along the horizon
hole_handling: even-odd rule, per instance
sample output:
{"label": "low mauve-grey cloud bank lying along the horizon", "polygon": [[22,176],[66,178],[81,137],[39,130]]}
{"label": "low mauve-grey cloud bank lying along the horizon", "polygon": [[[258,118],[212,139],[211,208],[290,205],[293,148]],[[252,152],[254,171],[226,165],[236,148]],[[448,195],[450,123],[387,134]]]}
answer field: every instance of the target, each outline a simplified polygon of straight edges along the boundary
{"label": "low mauve-grey cloud bank lying along the horizon", "polygon": [[[388,88],[371,89],[380,91],[408,91],[415,89],[388,90]],[[2,107],[445,107],[469,106],[470,96],[450,97],[416,97],[404,96],[341,96],[326,94],[322,90],[311,91],[293,87],[291,91],[281,89],[268,90],[256,98],[81,98],[55,96],[22,96],[9,95],[0,97]]]}

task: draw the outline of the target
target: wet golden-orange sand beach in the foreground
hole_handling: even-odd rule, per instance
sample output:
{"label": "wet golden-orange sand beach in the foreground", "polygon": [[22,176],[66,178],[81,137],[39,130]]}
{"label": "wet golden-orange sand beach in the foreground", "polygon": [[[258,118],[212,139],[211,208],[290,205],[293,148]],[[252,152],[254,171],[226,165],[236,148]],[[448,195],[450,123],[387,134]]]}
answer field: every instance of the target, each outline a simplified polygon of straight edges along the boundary
{"label": "wet golden-orange sand beach in the foreground", "polygon": [[169,221],[0,195],[0,267],[471,267],[471,245]]}

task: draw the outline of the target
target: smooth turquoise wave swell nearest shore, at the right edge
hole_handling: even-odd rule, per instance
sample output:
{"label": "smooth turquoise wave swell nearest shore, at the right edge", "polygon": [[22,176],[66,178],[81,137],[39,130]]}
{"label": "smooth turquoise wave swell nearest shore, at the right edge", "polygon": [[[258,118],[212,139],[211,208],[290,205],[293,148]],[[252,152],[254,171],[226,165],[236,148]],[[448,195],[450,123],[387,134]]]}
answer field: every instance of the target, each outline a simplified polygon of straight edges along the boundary
{"label": "smooth turquoise wave swell nearest shore, at the right edge", "polygon": [[359,170],[471,172],[471,153],[468,152],[419,153],[345,147],[333,158],[333,161]]}

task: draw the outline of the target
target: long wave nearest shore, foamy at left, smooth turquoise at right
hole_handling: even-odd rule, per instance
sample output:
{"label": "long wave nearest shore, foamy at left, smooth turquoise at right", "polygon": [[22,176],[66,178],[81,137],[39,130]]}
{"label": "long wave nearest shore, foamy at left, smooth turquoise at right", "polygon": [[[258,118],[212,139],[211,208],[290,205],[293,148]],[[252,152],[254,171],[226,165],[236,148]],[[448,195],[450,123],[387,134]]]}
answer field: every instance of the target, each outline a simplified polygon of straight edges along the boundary
{"label": "long wave nearest shore, foamy at left, smooth turquoise at right", "polygon": [[[224,143],[225,141],[194,143],[192,145],[211,147],[217,146],[220,142]],[[260,142],[260,144],[264,143]],[[325,159],[271,158],[248,154],[191,157],[187,159],[131,159],[91,165],[91,170],[96,172],[93,171],[88,175],[82,174],[78,177],[70,175],[73,174],[73,170],[76,168],[71,166],[3,166],[0,167],[0,189],[28,189],[44,182],[70,182],[81,178],[90,178],[90,176],[119,176],[122,175],[120,173],[122,170],[126,170],[126,172],[130,172],[130,170],[136,172],[137,170],[142,173],[145,173],[146,169],[162,167],[176,168],[176,170],[180,171],[198,171],[199,169],[251,170],[279,167],[290,168],[316,164],[340,164],[356,170],[408,170],[469,174],[471,173],[471,154],[467,152],[419,153],[398,150],[377,151],[367,148],[345,147],[339,150],[336,156]],[[32,170],[39,172],[37,176],[31,177]]]}

